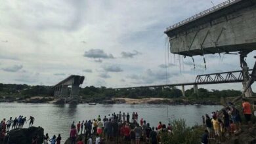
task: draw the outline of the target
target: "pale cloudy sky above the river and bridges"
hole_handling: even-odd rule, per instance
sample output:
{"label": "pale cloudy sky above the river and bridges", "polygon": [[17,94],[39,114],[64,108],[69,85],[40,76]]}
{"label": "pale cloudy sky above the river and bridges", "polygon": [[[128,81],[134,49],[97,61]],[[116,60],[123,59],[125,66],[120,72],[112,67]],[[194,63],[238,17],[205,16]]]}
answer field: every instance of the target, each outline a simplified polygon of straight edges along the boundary
{"label": "pale cloudy sky above the river and bridges", "polygon": [[[0,82],[54,85],[69,75],[112,88],[194,82],[240,70],[238,55],[183,58],[169,52],[169,27],[224,0],[13,0],[0,5]],[[250,68],[255,60],[247,57]],[[206,65],[206,69],[205,69]],[[208,89],[242,90],[242,84]],[[189,88],[189,87],[188,87]]]}

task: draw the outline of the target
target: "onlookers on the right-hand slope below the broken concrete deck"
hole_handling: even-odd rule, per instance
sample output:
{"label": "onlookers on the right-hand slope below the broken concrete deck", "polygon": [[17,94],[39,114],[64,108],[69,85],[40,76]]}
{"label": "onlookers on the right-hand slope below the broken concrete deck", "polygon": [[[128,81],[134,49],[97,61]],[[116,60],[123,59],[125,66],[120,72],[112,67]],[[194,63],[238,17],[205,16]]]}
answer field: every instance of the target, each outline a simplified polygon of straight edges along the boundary
{"label": "onlookers on the right-hand slope below the broken concrete deck", "polygon": [[[245,123],[251,129],[251,104],[242,99],[242,114],[244,115]],[[202,135],[202,144],[209,143],[209,139],[215,139],[221,143],[230,135],[241,132],[242,115],[233,103],[228,103],[221,111],[212,112],[211,115],[205,114],[202,116],[203,125],[206,130]]]}

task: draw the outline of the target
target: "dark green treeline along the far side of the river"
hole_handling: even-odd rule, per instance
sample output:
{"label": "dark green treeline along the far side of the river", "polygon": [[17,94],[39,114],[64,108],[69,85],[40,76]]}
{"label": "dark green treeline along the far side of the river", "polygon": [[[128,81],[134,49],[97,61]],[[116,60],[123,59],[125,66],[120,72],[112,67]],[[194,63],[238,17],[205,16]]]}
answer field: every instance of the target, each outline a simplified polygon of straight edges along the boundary
{"label": "dark green treeline along the far side of the river", "polygon": [[[1,84],[0,96],[53,96],[52,86],[29,86],[27,84]],[[198,89],[198,94],[194,94],[193,88],[185,91],[188,98],[221,98],[230,96],[240,96],[239,90],[207,90]],[[114,90],[112,88],[86,86],[81,88],[79,95],[82,98],[181,98],[182,92],[176,87],[171,88],[138,88]]]}

